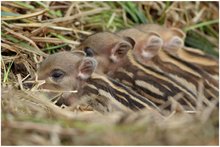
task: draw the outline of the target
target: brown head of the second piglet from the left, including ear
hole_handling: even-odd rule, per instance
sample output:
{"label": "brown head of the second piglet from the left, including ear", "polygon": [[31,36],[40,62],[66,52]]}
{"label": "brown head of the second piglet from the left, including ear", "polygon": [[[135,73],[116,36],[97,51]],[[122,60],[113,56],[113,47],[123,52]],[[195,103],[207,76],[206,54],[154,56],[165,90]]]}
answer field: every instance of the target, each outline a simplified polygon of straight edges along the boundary
{"label": "brown head of the second piglet from the left, including ear", "polygon": [[113,72],[126,62],[127,52],[133,48],[131,38],[121,38],[110,32],[100,32],[85,39],[80,50],[94,56],[99,63],[97,72],[107,74]]}

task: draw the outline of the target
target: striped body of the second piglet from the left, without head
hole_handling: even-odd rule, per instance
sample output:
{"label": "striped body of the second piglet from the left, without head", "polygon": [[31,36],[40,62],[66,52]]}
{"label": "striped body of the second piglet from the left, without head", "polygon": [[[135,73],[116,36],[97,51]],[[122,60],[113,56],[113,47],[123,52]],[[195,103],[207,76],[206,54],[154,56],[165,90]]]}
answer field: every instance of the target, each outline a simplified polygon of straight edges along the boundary
{"label": "striped body of the second piglet from the left, without head", "polygon": [[[184,98],[180,99],[179,103],[185,105],[187,110],[194,110],[196,105],[195,95],[176,84],[163,73],[141,66],[135,61],[131,51],[128,53],[127,65],[120,67],[111,77],[159,106],[167,103],[169,97],[174,97],[181,92],[184,93]],[[166,108],[170,109],[170,106]]]}

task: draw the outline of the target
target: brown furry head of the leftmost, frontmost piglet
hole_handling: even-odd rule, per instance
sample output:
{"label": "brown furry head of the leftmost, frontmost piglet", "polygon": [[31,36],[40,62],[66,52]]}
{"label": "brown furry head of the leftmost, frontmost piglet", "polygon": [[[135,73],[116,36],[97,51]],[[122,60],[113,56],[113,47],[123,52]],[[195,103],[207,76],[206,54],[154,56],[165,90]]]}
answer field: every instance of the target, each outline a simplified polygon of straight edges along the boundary
{"label": "brown furry head of the leftmost, frontmost piglet", "polygon": [[[88,66],[82,67],[82,63],[87,62]],[[77,93],[64,92],[62,99],[67,105],[70,105],[78,98],[81,97],[85,81],[83,77],[80,77],[80,73],[89,76],[96,67],[96,61],[92,58],[85,58],[84,54],[60,52],[50,55],[40,65],[37,75],[39,80],[45,80],[40,88],[57,90],[57,91],[73,91]],[[87,68],[87,69],[86,69]],[[54,79],[52,74],[55,70],[59,70],[63,73],[63,77]],[[84,70],[84,71],[83,71]],[[86,71],[87,70],[87,71]],[[49,93],[50,96],[56,93]]]}

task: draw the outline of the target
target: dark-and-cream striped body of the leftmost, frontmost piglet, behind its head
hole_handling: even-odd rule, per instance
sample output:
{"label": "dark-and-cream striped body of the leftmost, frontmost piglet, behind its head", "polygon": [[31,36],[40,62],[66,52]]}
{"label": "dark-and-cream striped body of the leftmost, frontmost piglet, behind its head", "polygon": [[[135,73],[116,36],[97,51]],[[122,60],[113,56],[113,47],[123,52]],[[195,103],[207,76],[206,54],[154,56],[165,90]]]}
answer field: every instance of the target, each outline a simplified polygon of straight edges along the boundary
{"label": "dark-and-cream striped body of the leftmost, frontmost piglet, behind its head", "polygon": [[101,97],[106,97],[123,110],[127,110],[129,108],[136,111],[148,108],[160,111],[153,102],[137,94],[125,85],[98,74],[93,74],[87,81],[84,94],[95,94],[100,95]]}

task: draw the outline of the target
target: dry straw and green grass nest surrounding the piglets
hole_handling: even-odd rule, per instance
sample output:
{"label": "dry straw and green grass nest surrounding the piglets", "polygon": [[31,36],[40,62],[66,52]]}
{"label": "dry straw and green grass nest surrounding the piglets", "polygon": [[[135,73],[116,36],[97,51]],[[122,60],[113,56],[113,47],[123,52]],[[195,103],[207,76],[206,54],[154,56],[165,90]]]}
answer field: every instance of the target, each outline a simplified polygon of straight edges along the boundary
{"label": "dry straw and green grass nest surrounding the piglets", "polygon": [[[21,83],[44,57],[88,35],[140,23],[181,28],[185,45],[218,57],[218,2],[1,2],[2,145],[218,145],[217,101],[194,114],[102,115],[61,109]],[[201,90],[202,93],[202,90]]]}

